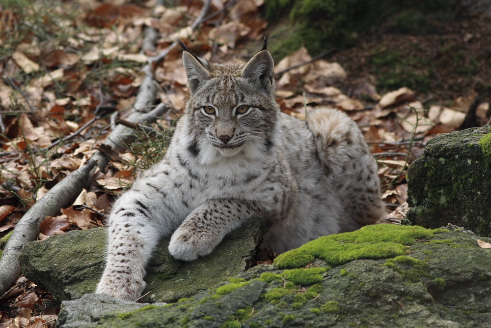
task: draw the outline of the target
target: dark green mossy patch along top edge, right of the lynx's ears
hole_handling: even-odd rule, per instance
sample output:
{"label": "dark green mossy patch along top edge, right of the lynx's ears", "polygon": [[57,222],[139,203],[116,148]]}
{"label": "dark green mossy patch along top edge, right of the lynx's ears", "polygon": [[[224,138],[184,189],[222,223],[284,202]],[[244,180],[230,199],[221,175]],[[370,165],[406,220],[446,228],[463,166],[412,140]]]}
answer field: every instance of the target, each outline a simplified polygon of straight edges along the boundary
{"label": "dark green mossy patch along top edge, right of the lynx's ears", "polygon": [[283,27],[272,33],[271,51],[278,60],[302,45],[311,55],[332,47],[352,46],[364,31],[391,16],[391,30],[424,32],[431,28],[426,14],[451,11],[457,4],[456,0],[268,0],[264,15],[269,22]]}

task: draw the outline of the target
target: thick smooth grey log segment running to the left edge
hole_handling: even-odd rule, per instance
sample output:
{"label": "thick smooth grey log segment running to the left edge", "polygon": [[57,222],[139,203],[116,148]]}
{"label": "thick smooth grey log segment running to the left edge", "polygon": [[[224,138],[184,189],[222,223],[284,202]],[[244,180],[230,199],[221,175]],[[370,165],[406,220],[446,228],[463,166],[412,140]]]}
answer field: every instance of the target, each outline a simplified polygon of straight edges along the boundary
{"label": "thick smooth grey log segment running to the left edge", "polygon": [[89,160],[81,168],[56,183],[17,222],[0,260],[0,295],[5,293],[21,274],[19,256],[27,242],[37,239],[41,222],[47,215],[58,214],[74,196],[80,194],[95,165],[95,161]]}

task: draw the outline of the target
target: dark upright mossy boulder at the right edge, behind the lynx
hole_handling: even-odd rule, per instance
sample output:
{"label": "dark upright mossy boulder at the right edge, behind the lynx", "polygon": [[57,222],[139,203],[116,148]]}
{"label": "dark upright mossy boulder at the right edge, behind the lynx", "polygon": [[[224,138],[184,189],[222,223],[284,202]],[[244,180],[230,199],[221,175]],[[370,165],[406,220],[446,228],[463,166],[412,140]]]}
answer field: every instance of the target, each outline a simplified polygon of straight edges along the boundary
{"label": "dark upright mossy boulder at the right edge, behind the lynx", "polygon": [[452,223],[491,237],[491,129],[442,134],[408,170],[407,218],[437,228]]}

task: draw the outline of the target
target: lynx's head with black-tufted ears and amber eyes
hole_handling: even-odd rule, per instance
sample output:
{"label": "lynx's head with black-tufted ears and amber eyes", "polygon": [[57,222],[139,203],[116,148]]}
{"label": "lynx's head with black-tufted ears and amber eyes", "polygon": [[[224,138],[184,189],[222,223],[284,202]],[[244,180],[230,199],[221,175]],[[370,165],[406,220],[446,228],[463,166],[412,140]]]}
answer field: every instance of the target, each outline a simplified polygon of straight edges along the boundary
{"label": "lynx's head with black-tufted ears and amber eyes", "polygon": [[186,104],[191,153],[213,162],[223,156],[270,152],[279,107],[266,38],[263,49],[246,64],[203,60],[180,44],[191,92]]}

